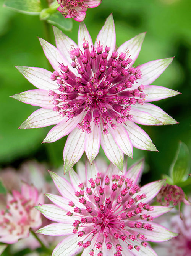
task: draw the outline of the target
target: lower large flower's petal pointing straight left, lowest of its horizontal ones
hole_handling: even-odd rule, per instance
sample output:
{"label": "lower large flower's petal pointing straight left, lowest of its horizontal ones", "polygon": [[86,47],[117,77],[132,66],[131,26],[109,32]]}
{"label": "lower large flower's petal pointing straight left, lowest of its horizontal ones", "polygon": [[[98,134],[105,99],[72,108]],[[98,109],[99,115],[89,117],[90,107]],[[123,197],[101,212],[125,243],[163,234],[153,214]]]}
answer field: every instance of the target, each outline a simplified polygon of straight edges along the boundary
{"label": "lower large flower's petal pointing straight left, lowest of its horizontal ones", "polygon": [[45,226],[44,228],[40,228],[36,232],[48,236],[66,236],[73,234],[72,225],[67,223],[52,223]]}

